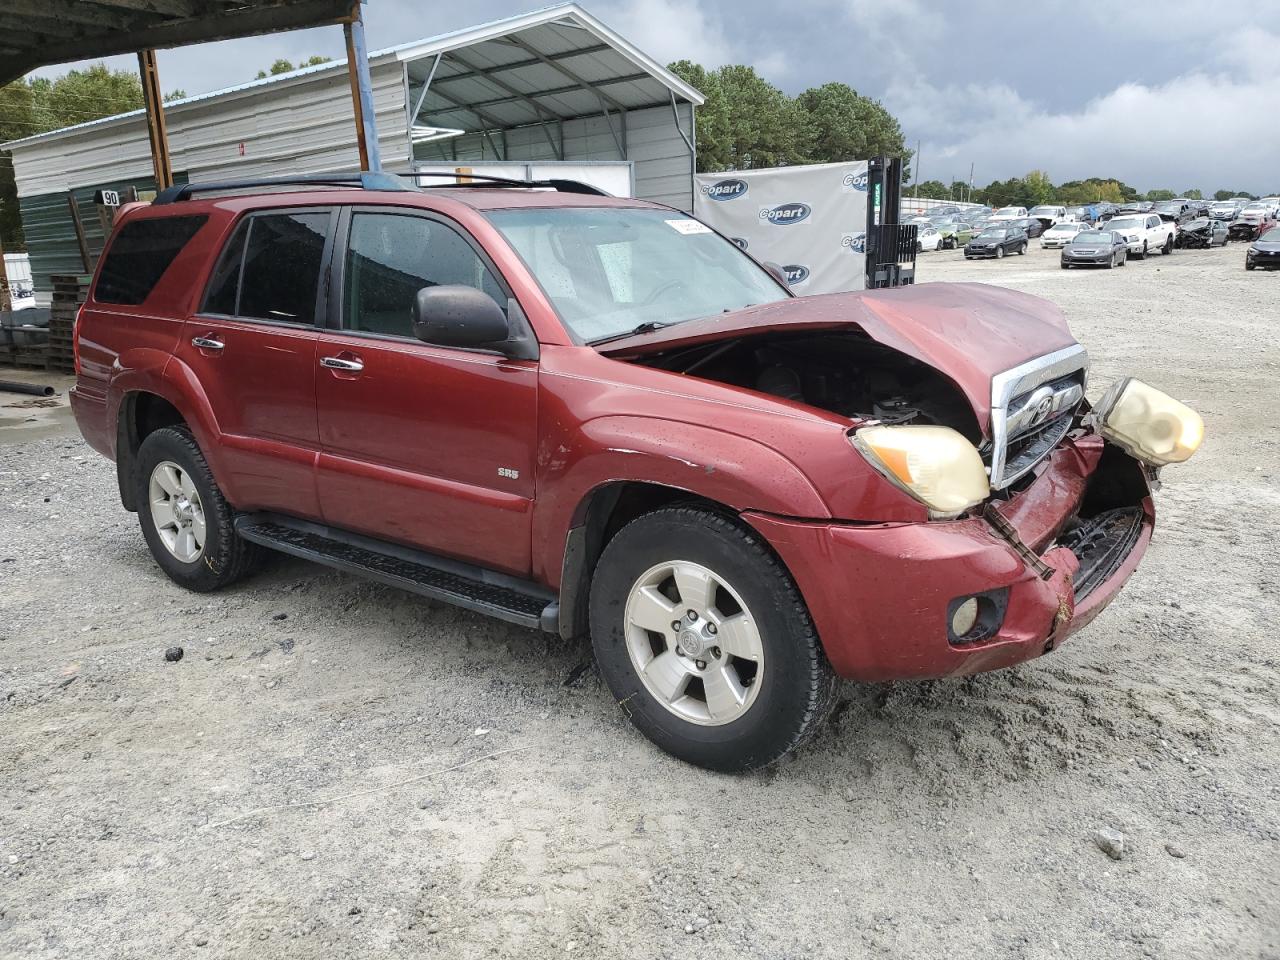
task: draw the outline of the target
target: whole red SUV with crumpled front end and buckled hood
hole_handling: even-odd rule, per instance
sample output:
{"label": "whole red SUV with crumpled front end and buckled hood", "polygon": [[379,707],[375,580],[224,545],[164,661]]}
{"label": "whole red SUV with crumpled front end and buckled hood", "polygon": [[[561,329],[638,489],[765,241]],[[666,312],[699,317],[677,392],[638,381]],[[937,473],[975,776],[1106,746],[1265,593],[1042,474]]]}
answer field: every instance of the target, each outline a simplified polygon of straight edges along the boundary
{"label": "whole red SUV with crumpled front end and buckled hood", "polygon": [[796,298],[686,214],[566,182],[308,183],[174,188],[102,257],[72,402],[156,562],[214,590],[266,547],[590,634],[704,767],[795,748],[837,677],[1053,649],[1199,443],[1138,380],[1091,410],[1021,293]]}

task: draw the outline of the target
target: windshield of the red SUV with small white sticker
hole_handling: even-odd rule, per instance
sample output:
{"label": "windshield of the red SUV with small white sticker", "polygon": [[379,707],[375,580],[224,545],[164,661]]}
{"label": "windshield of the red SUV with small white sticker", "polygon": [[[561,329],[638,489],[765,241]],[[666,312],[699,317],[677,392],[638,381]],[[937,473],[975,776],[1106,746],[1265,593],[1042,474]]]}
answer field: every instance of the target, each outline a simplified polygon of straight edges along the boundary
{"label": "windshield of the red SUV with small white sticker", "polygon": [[733,243],[673,211],[494,210],[489,220],[588,342],[787,298]]}

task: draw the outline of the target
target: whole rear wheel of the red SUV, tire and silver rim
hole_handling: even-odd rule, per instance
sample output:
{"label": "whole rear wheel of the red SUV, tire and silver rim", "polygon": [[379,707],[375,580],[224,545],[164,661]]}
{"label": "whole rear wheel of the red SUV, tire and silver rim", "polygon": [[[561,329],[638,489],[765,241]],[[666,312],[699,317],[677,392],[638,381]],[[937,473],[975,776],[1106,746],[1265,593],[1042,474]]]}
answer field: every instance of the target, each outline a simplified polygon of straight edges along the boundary
{"label": "whole rear wheel of the red SUV, tire and silver rim", "polygon": [[187,428],[147,434],[137,463],[142,536],[170,580],[207,593],[253,567],[257,549],[236,532],[234,511]]}

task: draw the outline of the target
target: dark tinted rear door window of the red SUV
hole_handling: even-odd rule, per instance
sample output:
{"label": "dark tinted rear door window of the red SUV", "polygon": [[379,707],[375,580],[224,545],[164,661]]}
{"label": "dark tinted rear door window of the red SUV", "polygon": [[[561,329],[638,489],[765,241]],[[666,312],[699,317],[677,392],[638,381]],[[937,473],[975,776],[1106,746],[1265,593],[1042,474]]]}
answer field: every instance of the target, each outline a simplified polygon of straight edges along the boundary
{"label": "dark tinted rear door window of the red SUV", "polygon": [[314,324],[329,220],[328,212],[250,218],[223,251],[205,312]]}

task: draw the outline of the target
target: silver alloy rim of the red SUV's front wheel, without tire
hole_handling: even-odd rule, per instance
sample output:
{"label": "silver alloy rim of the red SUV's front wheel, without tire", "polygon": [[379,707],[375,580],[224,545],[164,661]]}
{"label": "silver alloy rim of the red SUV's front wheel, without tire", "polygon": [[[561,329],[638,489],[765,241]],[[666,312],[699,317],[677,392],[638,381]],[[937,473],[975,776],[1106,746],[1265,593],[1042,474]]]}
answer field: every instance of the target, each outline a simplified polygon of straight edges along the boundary
{"label": "silver alloy rim of the red SUV's front wheel, without tire", "polygon": [[667,561],[631,586],[627,655],[645,690],[681,719],[732,723],[755,703],[764,645],[733,588],[690,561]]}

